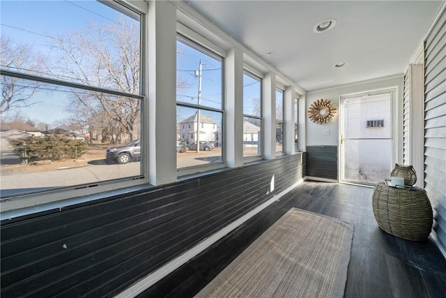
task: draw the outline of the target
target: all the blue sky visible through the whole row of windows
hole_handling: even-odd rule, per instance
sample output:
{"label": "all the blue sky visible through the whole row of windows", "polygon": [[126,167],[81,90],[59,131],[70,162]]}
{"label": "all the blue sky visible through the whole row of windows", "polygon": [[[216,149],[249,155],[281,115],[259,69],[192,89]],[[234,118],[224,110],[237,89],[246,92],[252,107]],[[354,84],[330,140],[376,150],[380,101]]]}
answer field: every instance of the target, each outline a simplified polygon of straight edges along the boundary
{"label": "all the blue sky visible through the whole row of windows", "polygon": [[[51,55],[52,36],[56,33],[68,34],[82,30],[90,20],[108,24],[114,22],[121,13],[98,1],[1,1],[1,35],[8,36],[17,43],[26,43],[45,54]],[[186,83],[186,88],[178,89],[177,100],[185,103],[198,103],[198,82],[195,70],[199,69],[201,59],[201,105],[222,108],[222,60],[210,53],[196,50],[190,45],[177,42],[180,54],[177,57],[177,75]],[[244,110],[249,113],[255,109],[255,100],[260,98],[260,83],[245,77]],[[68,116],[66,92],[40,91],[33,98],[36,103],[20,108],[20,113],[34,122],[45,122],[52,127],[55,121],[63,121]],[[190,117],[191,110],[184,114],[178,110],[178,119]],[[13,114],[15,111],[11,111]],[[181,113],[181,114],[180,114]],[[2,117],[4,114],[2,115]],[[219,122],[219,119],[215,119]],[[54,128],[54,127],[52,127]]]}

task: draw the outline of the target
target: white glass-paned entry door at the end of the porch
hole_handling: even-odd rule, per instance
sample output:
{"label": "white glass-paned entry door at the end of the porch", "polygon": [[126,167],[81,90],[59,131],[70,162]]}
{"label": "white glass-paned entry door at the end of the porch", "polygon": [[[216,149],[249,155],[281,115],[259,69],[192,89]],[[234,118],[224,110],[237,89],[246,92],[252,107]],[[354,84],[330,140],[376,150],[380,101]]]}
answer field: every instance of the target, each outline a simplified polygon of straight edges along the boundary
{"label": "white glass-paned entry door at the end of the porch", "polygon": [[394,166],[394,90],[342,96],[339,181],[374,185]]}

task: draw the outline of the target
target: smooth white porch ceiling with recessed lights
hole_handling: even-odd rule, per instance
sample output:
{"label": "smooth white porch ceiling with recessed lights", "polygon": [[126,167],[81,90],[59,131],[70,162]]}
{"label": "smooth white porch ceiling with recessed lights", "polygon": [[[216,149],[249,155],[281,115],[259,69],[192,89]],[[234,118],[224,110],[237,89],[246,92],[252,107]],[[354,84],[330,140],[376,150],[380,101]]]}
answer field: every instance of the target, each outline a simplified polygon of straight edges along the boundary
{"label": "smooth white porch ceiling with recessed lights", "polygon": [[[444,1],[186,1],[305,91],[404,73]],[[334,19],[330,31],[314,33]],[[270,54],[268,54],[270,53]],[[334,68],[335,64],[346,66]]]}

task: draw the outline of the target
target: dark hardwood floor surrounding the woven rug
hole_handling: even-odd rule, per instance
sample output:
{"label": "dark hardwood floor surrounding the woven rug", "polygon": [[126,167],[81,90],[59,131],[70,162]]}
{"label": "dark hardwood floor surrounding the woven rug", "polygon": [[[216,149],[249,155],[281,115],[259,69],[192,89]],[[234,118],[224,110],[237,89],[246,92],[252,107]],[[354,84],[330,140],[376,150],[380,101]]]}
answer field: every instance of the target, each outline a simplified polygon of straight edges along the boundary
{"label": "dark hardwood floor surrounding the woven rug", "polygon": [[429,238],[408,241],[378,228],[373,188],[305,181],[140,297],[193,297],[291,207],[353,223],[344,297],[446,297],[446,260]]}

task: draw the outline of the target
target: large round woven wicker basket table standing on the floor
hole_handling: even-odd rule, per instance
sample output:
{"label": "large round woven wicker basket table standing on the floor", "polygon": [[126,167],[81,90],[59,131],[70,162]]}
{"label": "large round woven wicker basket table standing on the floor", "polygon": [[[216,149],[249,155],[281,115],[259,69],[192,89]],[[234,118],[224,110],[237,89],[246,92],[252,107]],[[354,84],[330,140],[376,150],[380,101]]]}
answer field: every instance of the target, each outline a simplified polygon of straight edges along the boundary
{"label": "large round woven wicker basket table standing on the floor", "polygon": [[376,222],[385,232],[415,241],[431,234],[432,207],[423,189],[408,191],[379,183],[372,201]]}

